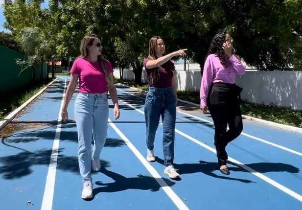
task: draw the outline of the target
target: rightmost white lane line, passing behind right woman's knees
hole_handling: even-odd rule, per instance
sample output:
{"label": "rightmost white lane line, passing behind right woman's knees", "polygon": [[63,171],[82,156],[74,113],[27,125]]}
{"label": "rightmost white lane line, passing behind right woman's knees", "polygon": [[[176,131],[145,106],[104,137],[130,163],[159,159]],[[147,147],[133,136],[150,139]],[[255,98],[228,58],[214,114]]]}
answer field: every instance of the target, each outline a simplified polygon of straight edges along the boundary
{"label": "rightmost white lane line, passing behind right woman's knees", "polygon": [[[128,93],[128,92],[123,91],[123,90],[120,90],[120,89],[117,89],[117,90],[122,91],[122,92],[124,92],[124,93]],[[135,94],[132,94],[132,93],[128,93],[128,94],[134,95],[134,96],[136,96],[136,97],[138,97],[138,98],[141,98],[141,99],[145,99],[145,98],[143,98],[143,97],[140,97],[140,96],[135,95]],[[195,119],[199,119],[199,120],[204,121],[204,122],[208,122],[208,123],[214,124],[213,122],[211,122],[211,121],[209,121],[209,120],[206,120],[206,119],[203,119],[203,118],[200,118],[200,117],[196,117],[196,116],[187,114],[187,113],[182,112],[182,111],[179,111],[179,110],[177,110],[177,112],[179,112],[179,113],[181,113],[181,114],[183,114],[183,115],[189,116],[189,117],[193,117],[193,118],[195,118]],[[285,147],[285,146],[281,146],[281,145],[279,145],[279,144],[276,144],[276,143],[273,143],[273,142],[270,142],[270,141],[267,141],[267,140],[263,140],[263,139],[260,139],[260,138],[258,138],[258,137],[254,137],[254,136],[252,136],[252,135],[249,135],[249,134],[246,134],[246,133],[243,133],[243,132],[242,132],[241,134],[242,134],[243,136],[249,137],[249,138],[251,138],[251,139],[261,141],[261,142],[266,143],[266,144],[269,144],[269,145],[271,145],[271,146],[275,146],[275,147],[277,147],[277,148],[279,148],[279,149],[283,149],[283,150],[285,150],[285,151],[287,151],[287,152],[291,152],[291,153],[293,153],[293,154],[302,156],[302,153],[301,153],[301,152],[297,152],[297,151],[292,150],[292,149],[289,149],[289,148],[287,148],[287,147]]]}

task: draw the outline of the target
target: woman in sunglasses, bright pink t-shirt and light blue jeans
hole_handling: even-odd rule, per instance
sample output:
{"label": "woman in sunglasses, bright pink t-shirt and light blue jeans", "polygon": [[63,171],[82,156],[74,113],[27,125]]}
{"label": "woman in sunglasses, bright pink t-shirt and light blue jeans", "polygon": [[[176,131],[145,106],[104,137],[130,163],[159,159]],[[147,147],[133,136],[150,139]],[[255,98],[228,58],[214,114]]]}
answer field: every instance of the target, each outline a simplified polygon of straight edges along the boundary
{"label": "woman in sunglasses, bright pink t-shirt and light blue jeans", "polygon": [[[81,42],[81,55],[74,61],[70,70],[70,82],[62,109],[62,120],[68,118],[67,106],[79,80],[79,93],[74,103],[74,118],[78,133],[78,159],[80,174],[83,177],[82,198],[93,196],[91,168],[99,171],[101,150],[106,142],[109,105],[107,91],[114,103],[114,116],[119,118],[119,108],[113,68],[109,61],[101,57],[101,39],[92,34]],[[94,140],[91,149],[92,134]]]}

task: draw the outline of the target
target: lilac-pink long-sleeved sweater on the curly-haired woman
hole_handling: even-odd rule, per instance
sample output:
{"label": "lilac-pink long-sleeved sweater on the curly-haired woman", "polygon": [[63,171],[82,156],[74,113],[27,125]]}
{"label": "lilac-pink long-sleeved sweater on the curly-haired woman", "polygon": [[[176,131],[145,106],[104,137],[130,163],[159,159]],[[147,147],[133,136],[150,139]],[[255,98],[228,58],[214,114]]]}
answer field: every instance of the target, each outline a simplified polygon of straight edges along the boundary
{"label": "lilac-pink long-sleeved sweater on the curly-haired woman", "polygon": [[226,66],[222,66],[217,54],[210,54],[205,62],[204,73],[200,85],[200,105],[207,105],[207,97],[211,83],[235,83],[237,75],[243,75],[245,65],[235,56],[226,57]]}

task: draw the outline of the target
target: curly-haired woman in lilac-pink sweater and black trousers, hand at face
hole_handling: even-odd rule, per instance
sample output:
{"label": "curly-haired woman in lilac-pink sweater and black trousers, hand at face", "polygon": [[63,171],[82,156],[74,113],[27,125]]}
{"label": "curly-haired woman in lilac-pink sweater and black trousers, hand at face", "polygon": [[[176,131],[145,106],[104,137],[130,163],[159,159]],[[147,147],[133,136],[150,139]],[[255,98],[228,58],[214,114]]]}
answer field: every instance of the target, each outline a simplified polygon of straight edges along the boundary
{"label": "curly-haired woman in lilac-pink sweater and black trousers, hand at face", "polygon": [[[245,66],[233,54],[232,38],[226,32],[216,34],[211,41],[200,87],[200,108],[207,106],[214,122],[219,170],[229,175],[226,146],[242,132],[240,93],[235,77],[243,75]],[[229,130],[227,131],[227,125]]]}

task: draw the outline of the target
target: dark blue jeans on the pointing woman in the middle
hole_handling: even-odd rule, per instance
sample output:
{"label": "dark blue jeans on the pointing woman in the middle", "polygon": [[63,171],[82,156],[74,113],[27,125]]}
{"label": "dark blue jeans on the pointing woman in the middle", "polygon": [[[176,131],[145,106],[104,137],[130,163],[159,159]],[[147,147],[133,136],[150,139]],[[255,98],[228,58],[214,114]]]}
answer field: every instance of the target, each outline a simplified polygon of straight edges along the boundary
{"label": "dark blue jeans on the pointing woman in the middle", "polygon": [[148,149],[153,149],[154,147],[155,133],[162,116],[163,158],[165,166],[172,165],[174,160],[176,105],[177,100],[172,87],[166,89],[149,88],[144,107],[147,147]]}

